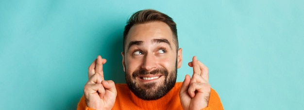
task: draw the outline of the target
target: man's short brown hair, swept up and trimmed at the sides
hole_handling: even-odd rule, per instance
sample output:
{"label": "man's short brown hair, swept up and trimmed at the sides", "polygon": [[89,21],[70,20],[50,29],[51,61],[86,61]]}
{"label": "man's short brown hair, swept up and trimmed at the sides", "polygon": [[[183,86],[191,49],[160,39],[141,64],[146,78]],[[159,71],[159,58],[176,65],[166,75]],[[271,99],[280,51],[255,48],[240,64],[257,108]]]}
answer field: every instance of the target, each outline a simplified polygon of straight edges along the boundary
{"label": "man's short brown hair, swept up and trimmed at the sides", "polygon": [[144,24],[153,21],[161,21],[166,23],[173,34],[173,41],[176,45],[176,50],[178,50],[178,39],[177,39],[177,29],[176,24],[171,17],[156,10],[141,10],[134,13],[130,19],[127,21],[127,25],[123,31],[123,52],[125,51],[126,39],[129,33],[130,28],[132,28],[136,24]]}

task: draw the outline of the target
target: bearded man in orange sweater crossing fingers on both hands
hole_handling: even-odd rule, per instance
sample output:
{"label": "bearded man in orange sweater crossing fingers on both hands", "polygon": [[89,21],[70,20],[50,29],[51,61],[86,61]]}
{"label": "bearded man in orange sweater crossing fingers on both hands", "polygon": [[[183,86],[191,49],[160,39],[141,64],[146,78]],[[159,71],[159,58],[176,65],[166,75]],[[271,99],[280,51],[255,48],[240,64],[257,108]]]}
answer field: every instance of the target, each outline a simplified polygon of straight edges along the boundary
{"label": "bearded man in orange sweater crossing fingers on both hands", "polygon": [[176,24],[154,10],[131,16],[123,34],[122,65],[126,84],[105,81],[99,55],[88,70],[89,80],[78,110],[223,110],[208,83],[208,69],[193,56],[190,78],[176,83],[182,66]]}

